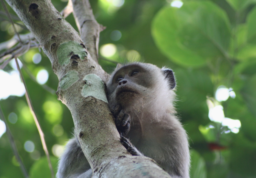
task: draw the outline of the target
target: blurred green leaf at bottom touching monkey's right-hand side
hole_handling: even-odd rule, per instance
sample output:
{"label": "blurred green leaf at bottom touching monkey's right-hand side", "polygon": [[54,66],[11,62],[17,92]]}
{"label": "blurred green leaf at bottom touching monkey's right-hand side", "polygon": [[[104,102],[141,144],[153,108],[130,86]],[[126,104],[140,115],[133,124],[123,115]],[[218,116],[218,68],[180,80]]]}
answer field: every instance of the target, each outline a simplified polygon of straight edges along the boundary
{"label": "blurred green leaf at bottom touching monkey's right-hand side", "polygon": [[200,156],[200,154],[196,150],[190,151],[191,156],[191,171],[190,176],[191,178],[206,178],[207,172],[206,172],[206,164],[203,157]]}

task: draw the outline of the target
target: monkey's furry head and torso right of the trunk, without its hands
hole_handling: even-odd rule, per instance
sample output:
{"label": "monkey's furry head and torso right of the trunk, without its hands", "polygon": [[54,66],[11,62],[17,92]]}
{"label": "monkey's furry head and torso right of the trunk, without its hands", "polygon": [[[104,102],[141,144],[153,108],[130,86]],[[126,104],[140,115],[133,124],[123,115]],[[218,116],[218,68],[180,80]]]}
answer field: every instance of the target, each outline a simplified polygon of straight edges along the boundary
{"label": "monkey's furry head and torso right of the trunk, without its hands", "polygon": [[[138,73],[131,76],[133,71]],[[172,70],[148,63],[127,64],[113,72],[107,88],[111,111],[120,106],[121,112],[131,117],[127,134],[131,143],[172,177],[188,178],[189,145],[186,131],[175,116]]]}

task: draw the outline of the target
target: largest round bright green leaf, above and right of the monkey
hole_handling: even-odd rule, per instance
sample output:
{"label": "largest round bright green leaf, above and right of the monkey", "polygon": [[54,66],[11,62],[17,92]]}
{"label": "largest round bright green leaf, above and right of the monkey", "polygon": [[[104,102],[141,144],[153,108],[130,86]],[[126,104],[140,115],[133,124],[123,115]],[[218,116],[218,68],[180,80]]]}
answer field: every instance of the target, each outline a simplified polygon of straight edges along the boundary
{"label": "largest round bright green leaf, above and right of the monkey", "polygon": [[152,22],[158,48],[182,66],[201,66],[208,59],[228,56],[230,22],[210,1],[188,1],[181,8],[165,7]]}

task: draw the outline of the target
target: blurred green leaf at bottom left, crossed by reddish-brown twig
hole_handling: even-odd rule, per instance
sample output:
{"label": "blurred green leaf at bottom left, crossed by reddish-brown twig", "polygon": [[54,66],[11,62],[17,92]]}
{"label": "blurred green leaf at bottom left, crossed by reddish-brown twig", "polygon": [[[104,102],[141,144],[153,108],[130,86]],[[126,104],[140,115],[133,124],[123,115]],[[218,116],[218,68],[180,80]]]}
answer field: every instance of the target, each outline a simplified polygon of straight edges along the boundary
{"label": "blurred green leaf at bottom left, crossed by reddish-brown twig", "polygon": [[[53,170],[57,170],[58,159],[56,157],[50,157]],[[30,178],[45,178],[51,177],[50,168],[46,157],[42,157],[37,160],[29,171]]]}

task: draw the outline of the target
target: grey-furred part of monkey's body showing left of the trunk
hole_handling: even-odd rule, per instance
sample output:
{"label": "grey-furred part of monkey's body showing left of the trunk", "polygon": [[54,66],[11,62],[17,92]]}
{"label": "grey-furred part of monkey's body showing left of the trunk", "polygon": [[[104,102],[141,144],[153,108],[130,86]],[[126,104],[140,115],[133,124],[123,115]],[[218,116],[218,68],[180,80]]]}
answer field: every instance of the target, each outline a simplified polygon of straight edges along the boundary
{"label": "grey-furred part of monkey's body showing left of the trunk", "polygon": [[92,170],[77,138],[72,138],[60,157],[57,178],[89,178]]}

